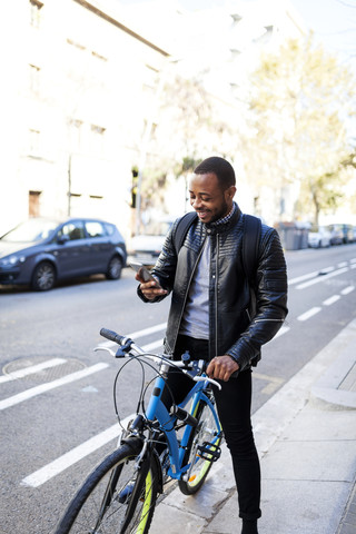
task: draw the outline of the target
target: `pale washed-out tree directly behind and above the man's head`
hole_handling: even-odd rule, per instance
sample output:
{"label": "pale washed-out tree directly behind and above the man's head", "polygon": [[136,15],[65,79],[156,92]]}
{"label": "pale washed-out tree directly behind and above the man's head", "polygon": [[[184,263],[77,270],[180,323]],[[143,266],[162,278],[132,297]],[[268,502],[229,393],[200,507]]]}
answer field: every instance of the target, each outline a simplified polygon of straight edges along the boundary
{"label": "pale washed-out tree directly behind and above the man's head", "polygon": [[[225,110],[225,111],[224,111]],[[205,155],[228,152],[235,138],[226,105],[208,93],[199,79],[180,76],[166,82],[157,122],[148,146],[145,180],[142,181],[142,210],[162,205],[169,174],[187,177]],[[221,155],[224,156],[224,155]]]}

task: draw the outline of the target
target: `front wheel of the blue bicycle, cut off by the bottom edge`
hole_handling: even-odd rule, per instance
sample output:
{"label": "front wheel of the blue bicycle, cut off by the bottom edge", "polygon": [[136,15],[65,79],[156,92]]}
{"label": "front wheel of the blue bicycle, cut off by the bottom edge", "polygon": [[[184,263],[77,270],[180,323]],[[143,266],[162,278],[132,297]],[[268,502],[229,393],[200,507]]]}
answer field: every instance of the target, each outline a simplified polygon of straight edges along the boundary
{"label": "front wheel of the blue bicycle, cut off by the bottom edge", "polygon": [[141,443],[134,441],[107,456],[77,492],[55,534],[147,534],[155,512],[159,474],[156,461],[149,457],[140,496],[131,510],[130,500],[140,477],[136,466],[140,449]]}

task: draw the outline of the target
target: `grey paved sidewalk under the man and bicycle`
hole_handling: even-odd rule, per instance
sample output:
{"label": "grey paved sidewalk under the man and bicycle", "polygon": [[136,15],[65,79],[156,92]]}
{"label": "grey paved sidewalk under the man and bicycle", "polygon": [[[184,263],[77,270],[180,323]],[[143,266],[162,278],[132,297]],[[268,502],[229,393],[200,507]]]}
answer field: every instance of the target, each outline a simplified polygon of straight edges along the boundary
{"label": "grey paved sidewalk under the man and bicycle", "polygon": [[[356,534],[356,319],[253,416],[260,534]],[[175,488],[150,534],[239,534],[229,453],[196,496]]]}

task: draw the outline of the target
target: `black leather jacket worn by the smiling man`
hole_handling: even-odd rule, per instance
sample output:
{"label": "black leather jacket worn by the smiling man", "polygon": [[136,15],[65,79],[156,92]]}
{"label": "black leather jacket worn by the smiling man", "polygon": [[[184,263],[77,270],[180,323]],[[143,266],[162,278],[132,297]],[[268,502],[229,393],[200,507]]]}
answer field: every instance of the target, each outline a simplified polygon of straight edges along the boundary
{"label": "black leather jacket worn by the smiling man", "polygon": [[[152,274],[160,285],[172,291],[165,350],[172,354],[195,268],[202,245],[210,236],[209,354],[231,355],[240,370],[256,365],[260,347],[279,330],[287,315],[287,273],[279,240],[274,228],[261,226],[258,267],[254,283],[256,314],[251,317],[251,298],[241,264],[244,215],[239,208],[216,227],[197,220],[189,228],[176,255],[174,239],[177,221],[168,233]],[[148,301],[138,290],[140,298]],[[158,297],[151,303],[165,298]]]}

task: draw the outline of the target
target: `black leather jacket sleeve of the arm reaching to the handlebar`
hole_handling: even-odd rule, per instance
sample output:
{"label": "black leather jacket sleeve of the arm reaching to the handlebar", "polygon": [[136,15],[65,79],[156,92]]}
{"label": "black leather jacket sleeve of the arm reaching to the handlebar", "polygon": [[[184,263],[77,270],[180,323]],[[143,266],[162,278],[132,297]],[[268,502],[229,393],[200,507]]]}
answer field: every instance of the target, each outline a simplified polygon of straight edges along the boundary
{"label": "black leather jacket sleeve of the arm reaching to the handlebar", "polygon": [[287,268],[278,233],[270,228],[263,235],[254,291],[256,315],[227,354],[240,370],[260,357],[260,347],[281,327],[287,309]]}

